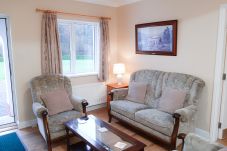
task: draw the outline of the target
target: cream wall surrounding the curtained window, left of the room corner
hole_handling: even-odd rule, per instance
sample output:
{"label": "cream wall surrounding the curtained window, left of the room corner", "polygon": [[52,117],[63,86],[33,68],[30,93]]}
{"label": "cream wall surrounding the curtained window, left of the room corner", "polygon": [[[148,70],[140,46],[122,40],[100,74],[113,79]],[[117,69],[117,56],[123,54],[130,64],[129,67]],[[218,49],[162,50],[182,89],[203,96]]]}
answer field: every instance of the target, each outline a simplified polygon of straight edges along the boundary
{"label": "cream wall surrounding the curtained window, left of the room corner", "polygon": [[[22,123],[34,119],[29,81],[41,74],[41,13],[37,13],[36,8],[111,17],[111,63],[116,60],[117,20],[115,8],[73,0],[0,0],[0,14],[8,15],[11,21],[17,104],[19,121]],[[93,82],[97,82],[97,77],[72,78],[73,85]]]}

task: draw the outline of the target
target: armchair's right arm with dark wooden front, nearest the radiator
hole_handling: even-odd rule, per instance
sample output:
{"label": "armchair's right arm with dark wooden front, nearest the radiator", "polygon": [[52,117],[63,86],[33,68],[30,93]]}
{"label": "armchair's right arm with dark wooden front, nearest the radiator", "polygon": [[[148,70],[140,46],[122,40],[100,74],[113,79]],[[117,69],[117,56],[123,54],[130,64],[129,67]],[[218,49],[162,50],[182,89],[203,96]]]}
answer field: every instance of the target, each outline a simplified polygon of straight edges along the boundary
{"label": "armchair's right arm with dark wooden front, nearest the radiator", "polygon": [[88,105],[87,100],[82,99],[78,96],[72,96],[70,98],[70,100],[71,100],[71,102],[73,104],[73,108],[75,110],[80,111],[80,112],[83,111],[83,113],[86,113],[86,106]]}

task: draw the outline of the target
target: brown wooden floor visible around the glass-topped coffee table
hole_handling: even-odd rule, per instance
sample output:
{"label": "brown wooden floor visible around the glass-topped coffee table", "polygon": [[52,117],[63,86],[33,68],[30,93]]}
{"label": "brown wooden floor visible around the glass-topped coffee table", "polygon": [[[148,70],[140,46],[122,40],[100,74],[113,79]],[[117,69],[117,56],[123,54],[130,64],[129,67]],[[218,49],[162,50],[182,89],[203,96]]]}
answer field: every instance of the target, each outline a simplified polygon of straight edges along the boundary
{"label": "brown wooden floor visible around the glass-topped coffee table", "polygon": [[[108,119],[106,109],[104,108],[91,111],[89,112],[89,114],[93,114],[104,121],[107,121]],[[145,151],[166,151],[166,149],[162,148],[161,146],[154,144],[149,138],[146,138],[145,136],[139,133],[131,131],[127,126],[123,125],[122,123],[118,122],[115,119],[112,120],[111,125],[146,144],[147,147],[145,148]],[[41,137],[37,127],[18,130],[17,134],[19,135],[19,137],[21,138],[21,140],[23,141],[23,143],[25,144],[29,151],[47,150],[46,143],[44,139]],[[219,142],[227,145],[227,140],[222,140]],[[54,143],[53,151],[66,151],[65,141],[62,140]]]}

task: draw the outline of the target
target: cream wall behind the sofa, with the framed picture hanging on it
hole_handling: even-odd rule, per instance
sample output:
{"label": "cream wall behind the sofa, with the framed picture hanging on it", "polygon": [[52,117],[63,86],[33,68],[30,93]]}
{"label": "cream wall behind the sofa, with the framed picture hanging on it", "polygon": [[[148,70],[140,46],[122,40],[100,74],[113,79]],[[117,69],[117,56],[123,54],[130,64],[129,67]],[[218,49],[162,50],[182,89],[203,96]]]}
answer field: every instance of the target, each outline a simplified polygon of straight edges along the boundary
{"label": "cream wall behind the sofa, with the framed picture hanging on it", "polygon": [[[143,0],[118,9],[118,59],[129,74],[157,69],[192,74],[206,86],[199,102],[197,127],[210,128],[218,12],[224,0]],[[135,54],[135,24],[177,19],[177,56]]]}

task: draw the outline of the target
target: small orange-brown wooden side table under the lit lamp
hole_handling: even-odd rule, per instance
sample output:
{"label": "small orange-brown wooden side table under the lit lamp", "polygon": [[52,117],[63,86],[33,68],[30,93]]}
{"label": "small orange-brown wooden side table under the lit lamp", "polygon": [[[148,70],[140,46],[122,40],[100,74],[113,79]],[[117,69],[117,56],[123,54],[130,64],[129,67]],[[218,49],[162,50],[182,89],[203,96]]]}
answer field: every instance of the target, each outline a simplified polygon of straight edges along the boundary
{"label": "small orange-brown wooden side table under the lit lamp", "polygon": [[127,83],[122,83],[122,84],[117,84],[117,83],[109,83],[106,85],[107,86],[107,100],[106,100],[106,106],[107,106],[107,111],[109,111],[110,109],[110,101],[111,101],[111,97],[108,95],[109,92],[113,89],[120,89],[120,88],[128,88],[128,84]]}

